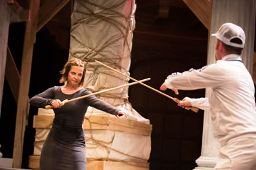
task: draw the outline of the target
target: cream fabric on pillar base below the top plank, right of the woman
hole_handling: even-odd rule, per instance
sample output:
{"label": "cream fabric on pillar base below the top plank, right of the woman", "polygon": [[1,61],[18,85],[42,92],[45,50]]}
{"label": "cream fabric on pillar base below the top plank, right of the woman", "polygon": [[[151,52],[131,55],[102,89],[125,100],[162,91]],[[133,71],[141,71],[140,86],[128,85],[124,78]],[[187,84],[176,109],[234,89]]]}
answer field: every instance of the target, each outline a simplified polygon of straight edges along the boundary
{"label": "cream fabric on pillar base below the top plank, right of the woman", "polygon": [[94,140],[91,140],[91,133],[85,131],[87,158],[126,162],[147,162],[149,159],[151,151],[149,136],[101,130],[93,130],[92,135]]}

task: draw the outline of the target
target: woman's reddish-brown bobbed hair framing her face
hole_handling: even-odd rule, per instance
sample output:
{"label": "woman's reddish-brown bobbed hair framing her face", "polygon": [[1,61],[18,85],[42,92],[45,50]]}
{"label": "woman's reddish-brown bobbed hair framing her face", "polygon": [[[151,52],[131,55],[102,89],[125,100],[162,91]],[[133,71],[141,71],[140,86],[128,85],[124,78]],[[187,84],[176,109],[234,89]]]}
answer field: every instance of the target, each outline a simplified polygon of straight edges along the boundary
{"label": "woman's reddish-brown bobbed hair framing her face", "polygon": [[79,85],[83,86],[83,81],[85,80],[85,71],[86,71],[86,64],[83,63],[80,59],[70,59],[65,66],[63,67],[63,70],[59,71],[62,75],[61,79],[59,80],[60,83],[64,83],[67,80],[67,77],[69,75],[69,71],[71,69],[71,66],[78,66],[83,68],[83,76],[81,78],[81,81]]}

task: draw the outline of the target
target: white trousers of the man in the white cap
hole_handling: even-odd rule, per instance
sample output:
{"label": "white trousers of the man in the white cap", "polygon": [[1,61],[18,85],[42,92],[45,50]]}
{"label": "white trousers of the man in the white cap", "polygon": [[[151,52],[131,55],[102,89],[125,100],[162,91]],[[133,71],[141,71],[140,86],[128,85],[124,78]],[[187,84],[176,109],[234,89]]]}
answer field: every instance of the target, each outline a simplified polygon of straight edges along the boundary
{"label": "white trousers of the man in the white cap", "polygon": [[[255,122],[256,123],[256,122]],[[232,138],[220,147],[215,170],[256,170],[256,135]]]}

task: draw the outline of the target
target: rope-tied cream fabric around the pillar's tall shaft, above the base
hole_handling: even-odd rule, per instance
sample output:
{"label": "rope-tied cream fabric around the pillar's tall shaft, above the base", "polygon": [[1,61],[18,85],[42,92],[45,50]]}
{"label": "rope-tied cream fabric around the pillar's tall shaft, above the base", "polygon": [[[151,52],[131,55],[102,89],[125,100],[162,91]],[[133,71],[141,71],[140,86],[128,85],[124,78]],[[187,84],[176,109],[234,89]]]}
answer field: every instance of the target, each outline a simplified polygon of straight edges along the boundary
{"label": "rope-tied cream fabric around the pillar's tall shaft, above the base", "polygon": [[[74,1],[70,58],[76,57],[87,62],[85,88],[95,92],[128,83],[127,77],[94,60],[129,75],[135,10],[134,0]],[[149,120],[129,104],[128,88],[102,93],[98,97],[130,113],[132,119],[149,124]]]}

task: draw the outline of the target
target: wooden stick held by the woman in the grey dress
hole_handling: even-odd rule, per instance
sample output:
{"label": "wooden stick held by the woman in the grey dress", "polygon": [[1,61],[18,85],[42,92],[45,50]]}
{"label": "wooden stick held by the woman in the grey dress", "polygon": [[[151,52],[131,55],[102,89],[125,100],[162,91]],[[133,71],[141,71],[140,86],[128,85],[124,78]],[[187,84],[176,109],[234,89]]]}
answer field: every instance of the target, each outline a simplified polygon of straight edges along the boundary
{"label": "wooden stick held by the woman in the grey dress", "polygon": [[[117,89],[119,89],[119,88],[125,88],[125,87],[127,87],[127,86],[132,86],[132,85],[134,85],[134,84],[138,84],[138,83],[140,83],[140,82],[145,82],[145,81],[147,81],[147,80],[150,80],[150,78],[147,78],[147,79],[143,79],[143,80],[139,80],[139,81],[137,81],[137,82],[131,82],[131,83],[129,83],[129,84],[124,84],[124,85],[122,85],[122,86],[117,86],[117,87],[115,87],[115,88],[110,88],[110,89],[107,89],[107,90],[102,90],[102,91],[98,91],[98,92],[96,92],[96,93],[91,93],[91,94],[89,94],[89,95],[84,95],[84,96],[81,96],[81,97],[77,97],[77,98],[75,98],[75,99],[71,99],[71,100],[63,100],[63,105],[64,104],[66,104],[66,103],[68,103],[68,102],[72,102],[72,101],[74,101],[74,100],[80,100],[80,99],[83,99],[83,98],[86,98],[86,97],[90,97],[90,96],[92,96],[92,95],[98,95],[98,94],[100,94],[100,93],[105,93],[105,92],[107,92],[107,91],[111,91],[111,90],[117,90]],[[62,106],[63,106],[62,105]],[[52,108],[54,108],[52,105],[47,105],[47,106],[45,106],[45,109],[52,109]]]}

